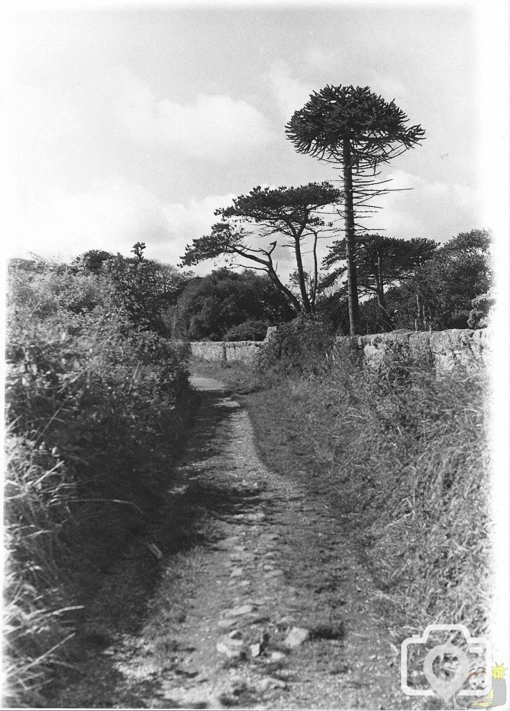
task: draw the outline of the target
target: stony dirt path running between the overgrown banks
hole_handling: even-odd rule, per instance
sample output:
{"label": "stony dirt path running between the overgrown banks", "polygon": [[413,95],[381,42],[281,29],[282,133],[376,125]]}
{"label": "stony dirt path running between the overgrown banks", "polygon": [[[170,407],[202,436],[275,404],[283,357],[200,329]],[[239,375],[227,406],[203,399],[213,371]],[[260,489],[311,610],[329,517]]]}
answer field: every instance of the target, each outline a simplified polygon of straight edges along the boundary
{"label": "stony dirt path running between the overgrown banks", "polygon": [[266,469],[222,383],[192,383],[203,403],[153,531],[163,555],[145,538],[119,562],[54,705],[411,708],[374,585],[327,502]]}

